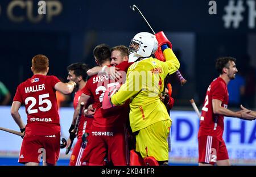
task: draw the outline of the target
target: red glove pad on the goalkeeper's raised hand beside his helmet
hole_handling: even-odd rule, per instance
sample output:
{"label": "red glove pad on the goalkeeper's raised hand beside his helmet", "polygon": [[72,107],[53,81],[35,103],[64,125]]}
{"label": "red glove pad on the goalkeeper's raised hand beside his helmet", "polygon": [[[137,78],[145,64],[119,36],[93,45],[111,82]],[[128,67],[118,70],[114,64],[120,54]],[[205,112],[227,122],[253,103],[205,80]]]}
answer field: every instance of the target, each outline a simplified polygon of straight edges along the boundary
{"label": "red glove pad on the goalkeeper's raised hand beside his helmet", "polygon": [[[155,57],[160,61],[166,61],[163,55],[163,51],[164,49],[167,49],[167,48],[172,49],[172,44],[167,39],[166,35],[164,35],[163,31],[156,33],[155,37],[156,37],[156,40],[158,40],[158,49],[155,52]],[[163,46],[164,44],[166,44],[167,46]]]}

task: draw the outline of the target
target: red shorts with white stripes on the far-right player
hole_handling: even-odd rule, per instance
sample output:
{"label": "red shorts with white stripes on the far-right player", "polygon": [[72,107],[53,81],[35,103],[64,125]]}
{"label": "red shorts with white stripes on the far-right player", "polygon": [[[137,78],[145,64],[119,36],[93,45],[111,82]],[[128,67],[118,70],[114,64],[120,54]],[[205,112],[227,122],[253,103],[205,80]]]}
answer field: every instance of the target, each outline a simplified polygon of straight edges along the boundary
{"label": "red shorts with white stripes on the far-right player", "polygon": [[224,140],[212,136],[201,136],[198,138],[200,163],[214,165],[217,161],[229,159],[228,150]]}

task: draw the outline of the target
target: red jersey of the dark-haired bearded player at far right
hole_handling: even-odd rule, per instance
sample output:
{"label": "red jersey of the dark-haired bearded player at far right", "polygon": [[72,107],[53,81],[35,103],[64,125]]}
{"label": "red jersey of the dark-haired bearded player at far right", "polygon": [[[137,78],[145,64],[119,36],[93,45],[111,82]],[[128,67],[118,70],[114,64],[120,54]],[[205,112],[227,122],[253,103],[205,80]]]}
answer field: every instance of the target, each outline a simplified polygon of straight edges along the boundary
{"label": "red jersey of the dark-haired bearded player at far right", "polygon": [[221,106],[228,108],[228,88],[226,82],[218,77],[210,83],[205,96],[204,107],[202,108],[200,118],[200,128],[198,137],[213,136],[222,140],[224,131],[224,116],[213,113],[212,100],[218,99],[222,101]]}

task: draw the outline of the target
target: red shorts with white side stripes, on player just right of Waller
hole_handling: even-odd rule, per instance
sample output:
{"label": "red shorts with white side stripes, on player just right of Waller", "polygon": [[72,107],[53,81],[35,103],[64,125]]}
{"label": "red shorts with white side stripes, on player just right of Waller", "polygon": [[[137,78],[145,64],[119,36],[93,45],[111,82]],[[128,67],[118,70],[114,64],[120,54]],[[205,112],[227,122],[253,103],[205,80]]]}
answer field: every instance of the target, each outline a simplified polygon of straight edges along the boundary
{"label": "red shorts with white side stripes, on player just right of Waller", "polygon": [[[87,141],[89,140],[89,136],[87,137]],[[69,166],[81,166],[82,154],[84,153],[86,144],[82,141],[82,137],[77,139],[76,145],[72,151],[71,158],[69,161]]]}

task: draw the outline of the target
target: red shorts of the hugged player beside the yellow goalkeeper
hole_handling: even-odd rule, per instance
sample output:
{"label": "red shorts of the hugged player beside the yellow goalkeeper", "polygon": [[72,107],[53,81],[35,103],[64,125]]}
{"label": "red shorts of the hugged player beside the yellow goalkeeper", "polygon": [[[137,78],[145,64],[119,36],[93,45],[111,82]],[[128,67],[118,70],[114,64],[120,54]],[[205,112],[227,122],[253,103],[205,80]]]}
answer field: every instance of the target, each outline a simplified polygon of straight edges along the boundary
{"label": "red shorts of the hugged player beside the yellow goalkeeper", "polygon": [[88,144],[82,155],[82,162],[88,165],[105,165],[104,159],[115,166],[129,164],[126,130],[108,131],[92,125]]}

